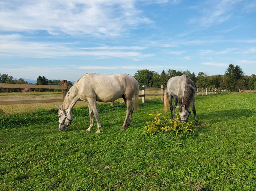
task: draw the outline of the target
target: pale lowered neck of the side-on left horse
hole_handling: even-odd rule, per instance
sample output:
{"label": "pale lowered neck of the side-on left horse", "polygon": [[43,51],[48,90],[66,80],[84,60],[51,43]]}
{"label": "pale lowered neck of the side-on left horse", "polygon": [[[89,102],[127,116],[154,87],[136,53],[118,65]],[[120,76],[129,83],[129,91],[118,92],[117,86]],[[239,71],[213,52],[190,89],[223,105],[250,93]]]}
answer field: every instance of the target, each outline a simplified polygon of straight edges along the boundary
{"label": "pale lowered neck of the side-on left horse", "polygon": [[67,95],[64,98],[62,107],[64,110],[72,110],[76,102],[78,101],[79,97],[77,96],[77,89],[75,89],[75,86],[73,85]]}

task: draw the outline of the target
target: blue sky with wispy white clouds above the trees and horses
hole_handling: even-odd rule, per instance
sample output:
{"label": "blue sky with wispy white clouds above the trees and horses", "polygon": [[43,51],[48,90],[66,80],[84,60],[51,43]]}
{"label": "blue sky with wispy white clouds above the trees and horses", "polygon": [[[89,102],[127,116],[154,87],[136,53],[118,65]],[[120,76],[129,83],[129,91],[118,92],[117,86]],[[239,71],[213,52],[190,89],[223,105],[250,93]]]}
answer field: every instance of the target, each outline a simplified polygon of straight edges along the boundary
{"label": "blue sky with wispy white clouds above the trees and horses", "polygon": [[1,0],[0,73],[74,81],[87,72],[256,74],[253,0]]}

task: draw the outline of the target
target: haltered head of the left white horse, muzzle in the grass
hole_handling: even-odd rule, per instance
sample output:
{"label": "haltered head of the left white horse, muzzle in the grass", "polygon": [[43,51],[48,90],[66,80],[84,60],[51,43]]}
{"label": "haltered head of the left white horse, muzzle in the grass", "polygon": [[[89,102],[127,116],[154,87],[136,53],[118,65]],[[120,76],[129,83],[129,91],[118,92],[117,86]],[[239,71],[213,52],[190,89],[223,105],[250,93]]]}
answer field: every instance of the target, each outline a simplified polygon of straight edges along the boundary
{"label": "haltered head of the left white horse, muzzle in the grass", "polygon": [[63,110],[61,106],[57,106],[59,109],[59,131],[67,131],[67,127],[70,125],[73,115],[71,110]]}

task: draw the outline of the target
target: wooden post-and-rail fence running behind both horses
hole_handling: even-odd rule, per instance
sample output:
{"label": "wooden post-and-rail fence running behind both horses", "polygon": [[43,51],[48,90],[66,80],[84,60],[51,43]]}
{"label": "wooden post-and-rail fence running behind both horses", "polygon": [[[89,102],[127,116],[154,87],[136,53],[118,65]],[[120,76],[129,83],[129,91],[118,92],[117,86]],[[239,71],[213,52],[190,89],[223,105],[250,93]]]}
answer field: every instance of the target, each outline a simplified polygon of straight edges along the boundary
{"label": "wooden post-and-rail fence running behind both horses", "polygon": [[[43,99],[43,100],[11,100],[11,101],[0,101],[0,105],[15,105],[15,104],[32,104],[32,103],[56,103],[63,102],[67,90],[70,86],[67,86],[67,80],[61,80],[62,85],[36,85],[36,84],[3,84],[0,83],[0,88],[38,88],[38,89],[61,89],[62,99]],[[151,87],[140,87],[142,94],[139,97],[142,97],[142,103],[145,103],[145,97],[148,96],[161,96],[163,101],[164,97],[164,86],[161,85],[161,88],[151,88]],[[146,94],[145,90],[161,90],[160,93],[150,93]],[[219,94],[223,92],[230,92],[227,89],[207,89],[207,88],[197,88],[196,94],[208,95],[208,94]],[[26,94],[26,93],[24,93]],[[120,97],[121,98],[121,97]],[[114,103],[111,102],[111,105],[114,106]]]}

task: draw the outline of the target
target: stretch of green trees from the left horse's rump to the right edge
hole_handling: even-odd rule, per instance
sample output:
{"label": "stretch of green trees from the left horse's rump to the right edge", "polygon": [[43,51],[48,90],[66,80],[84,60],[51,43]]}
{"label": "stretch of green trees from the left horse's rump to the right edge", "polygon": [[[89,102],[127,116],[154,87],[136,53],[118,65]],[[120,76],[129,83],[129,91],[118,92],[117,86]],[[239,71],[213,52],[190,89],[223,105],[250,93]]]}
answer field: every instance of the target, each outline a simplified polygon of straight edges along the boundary
{"label": "stretch of green trees from the left horse's rump to the right edge", "polygon": [[239,89],[256,89],[256,76],[245,76],[243,70],[238,66],[229,64],[224,75],[208,76],[204,72],[199,72],[196,76],[194,72],[176,71],[168,69],[166,72],[163,70],[161,74],[155,71],[138,70],[135,77],[139,81],[139,86],[145,87],[160,87],[167,84],[167,81],[174,76],[188,75],[195,83],[196,88],[224,88],[231,92],[238,92]]}

